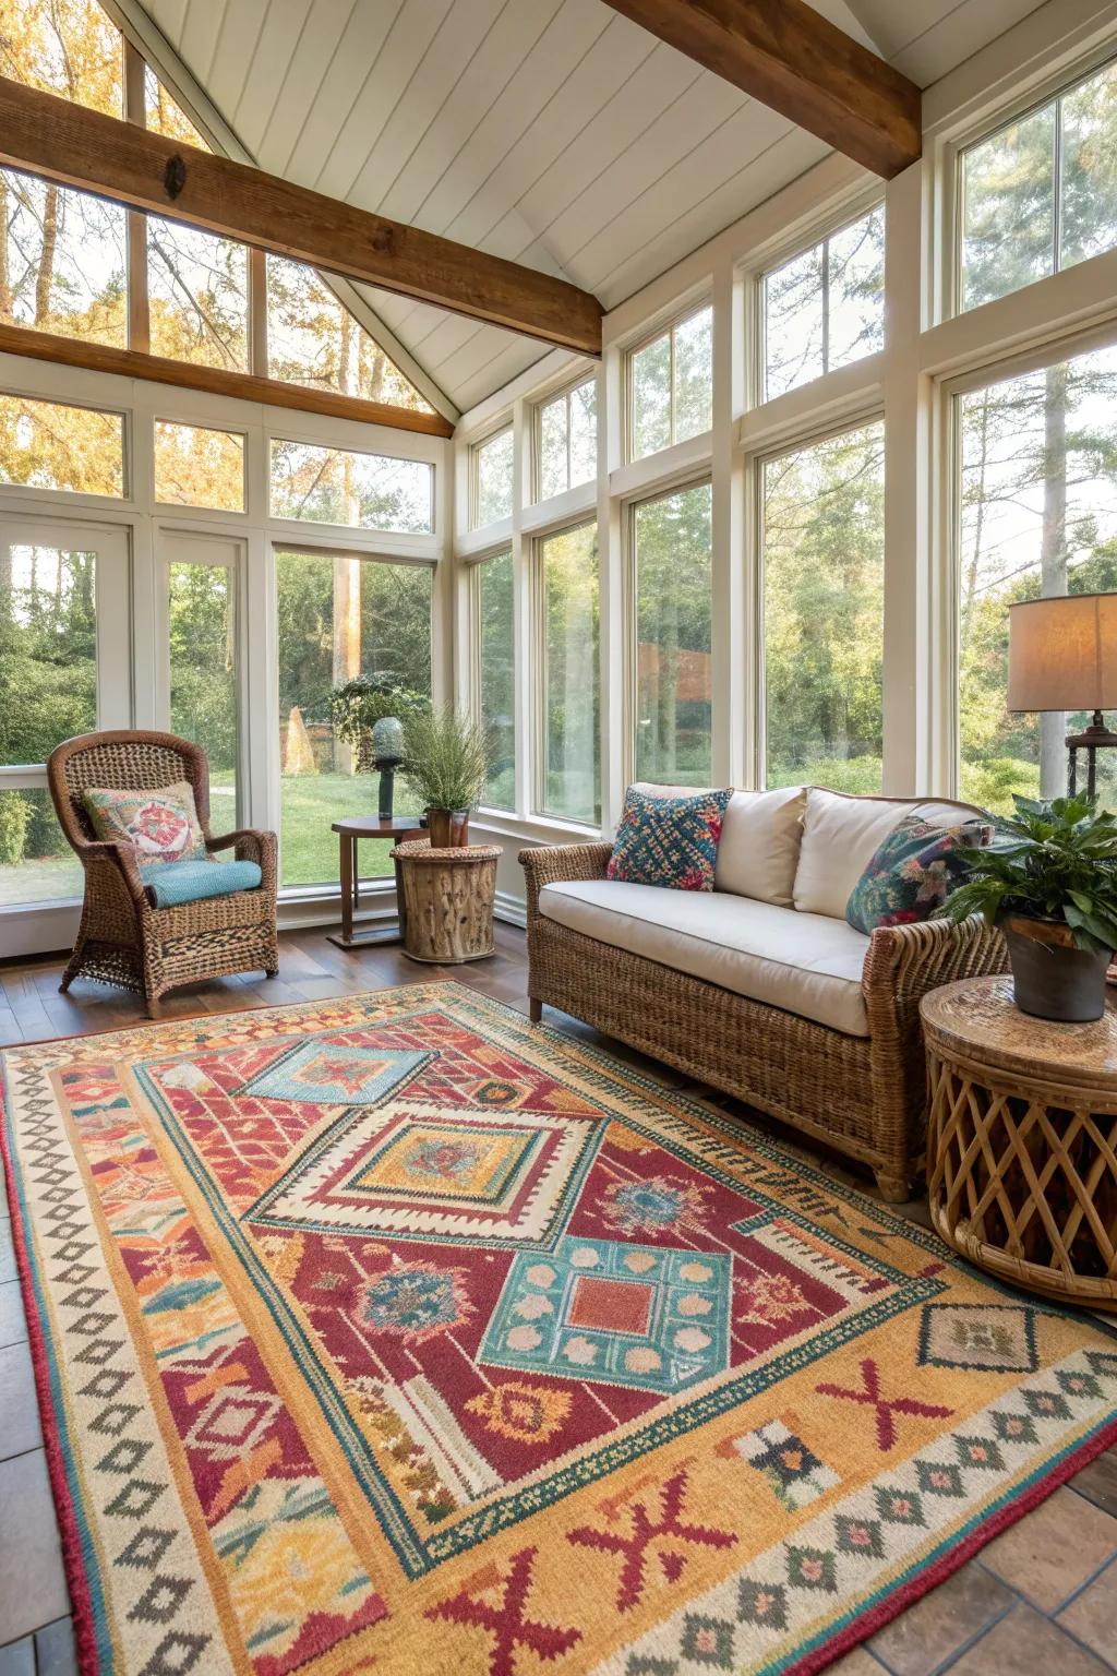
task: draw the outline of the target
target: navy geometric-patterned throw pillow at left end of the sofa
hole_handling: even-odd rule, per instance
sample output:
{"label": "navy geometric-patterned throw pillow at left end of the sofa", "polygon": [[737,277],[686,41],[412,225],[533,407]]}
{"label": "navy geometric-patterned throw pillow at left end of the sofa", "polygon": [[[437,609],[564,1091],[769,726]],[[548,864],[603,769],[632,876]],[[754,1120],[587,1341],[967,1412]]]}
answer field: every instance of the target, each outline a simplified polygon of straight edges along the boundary
{"label": "navy geometric-patterned throw pillow at left end of the sofa", "polygon": [[613,840],[608,877],[665,890],[713,890],[713,866],[728,791],[648,798],[630,786]]}

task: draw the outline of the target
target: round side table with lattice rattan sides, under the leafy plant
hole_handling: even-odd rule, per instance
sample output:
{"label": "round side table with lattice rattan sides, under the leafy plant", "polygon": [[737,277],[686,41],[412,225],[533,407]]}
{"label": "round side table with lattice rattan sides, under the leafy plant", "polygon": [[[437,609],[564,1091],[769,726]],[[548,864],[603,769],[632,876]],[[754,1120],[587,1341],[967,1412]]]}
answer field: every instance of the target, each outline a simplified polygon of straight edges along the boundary
{"label": "round side table with lattice rattan sides, under the leafy plant", "polygon": [[936,1232],[1001,1280],[1117,1309],[1114,1001],[1055,1024],[1017,1009],[1011,977],[971,977],[921,1014]]}

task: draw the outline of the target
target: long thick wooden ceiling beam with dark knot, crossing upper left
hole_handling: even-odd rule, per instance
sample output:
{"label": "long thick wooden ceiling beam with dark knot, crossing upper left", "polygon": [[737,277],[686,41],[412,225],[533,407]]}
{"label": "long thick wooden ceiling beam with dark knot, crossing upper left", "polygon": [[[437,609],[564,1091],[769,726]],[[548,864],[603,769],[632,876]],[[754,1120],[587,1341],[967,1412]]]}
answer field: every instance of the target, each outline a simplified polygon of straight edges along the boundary
{"label": "long thick wooden ceiling beam with dark knot, crossing upper left", "polygon": [[0,163],[328,273],[601,354],[589,292],[0,77]]}

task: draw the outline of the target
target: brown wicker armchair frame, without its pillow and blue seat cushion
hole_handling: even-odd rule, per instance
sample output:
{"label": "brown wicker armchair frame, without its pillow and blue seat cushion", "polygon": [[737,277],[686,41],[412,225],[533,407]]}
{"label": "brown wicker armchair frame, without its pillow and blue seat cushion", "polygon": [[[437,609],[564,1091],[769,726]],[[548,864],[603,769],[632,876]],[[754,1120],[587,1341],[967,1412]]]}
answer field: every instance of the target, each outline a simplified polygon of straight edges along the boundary
{"label": "brown wicker armchair frame, without its pillow and blue seat cushion", "polygon": [[[159,1017],[169,989],[229,972],[280,969],[275,920],[275,833],[209,836],[209,764],[201,746],[162,732],[92,732],[50,754],[47,779],[59,825],[85,870],[85,900],[74,954],[60,989],[75,977],[131,989]],[[131,845],[100,843],[82,803],[87,786],[159,791],[176,781],[194,791],[206,850],[233,850],[256,861],[261,883],[229,897],[157,908],[139,877]]]}

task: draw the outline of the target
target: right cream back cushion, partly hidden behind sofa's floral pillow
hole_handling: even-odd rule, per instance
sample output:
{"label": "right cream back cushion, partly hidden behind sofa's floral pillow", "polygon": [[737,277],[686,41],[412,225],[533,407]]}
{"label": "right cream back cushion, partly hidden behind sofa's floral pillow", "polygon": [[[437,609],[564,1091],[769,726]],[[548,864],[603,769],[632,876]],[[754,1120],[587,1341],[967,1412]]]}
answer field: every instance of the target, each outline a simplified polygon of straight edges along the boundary
{"label": "right cream back cushion, partly hidden behind sofa's floral pillow", "polygon": [[811,786],[795,870],[795,908],[844,918],[849,893],[878,845],[908,815],[921,815],[933,826],[960,826],[976,820],[976,813],[970,803],[943,798],[847,798]]}

